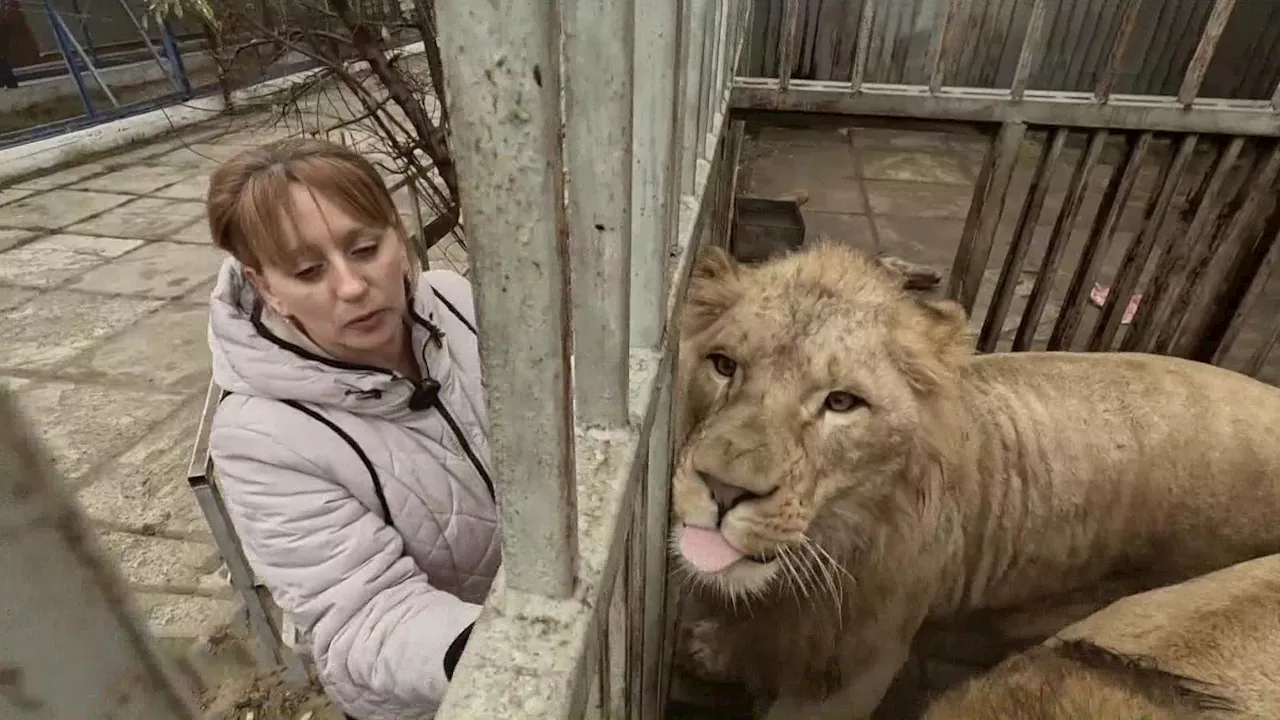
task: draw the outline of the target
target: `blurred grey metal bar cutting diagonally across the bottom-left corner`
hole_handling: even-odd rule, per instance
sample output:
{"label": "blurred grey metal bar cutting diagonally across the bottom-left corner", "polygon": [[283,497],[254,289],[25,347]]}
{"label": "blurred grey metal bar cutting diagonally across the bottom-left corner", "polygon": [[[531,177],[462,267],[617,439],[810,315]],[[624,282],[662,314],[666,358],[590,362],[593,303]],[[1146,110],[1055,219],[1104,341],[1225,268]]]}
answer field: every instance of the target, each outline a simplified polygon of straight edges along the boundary
{"label": "blurred grey metal bar cutting diagonally across the bottom-left corner", "polygon": [[195,720],[189,688],[3,388],[0,468],[0,715]]}

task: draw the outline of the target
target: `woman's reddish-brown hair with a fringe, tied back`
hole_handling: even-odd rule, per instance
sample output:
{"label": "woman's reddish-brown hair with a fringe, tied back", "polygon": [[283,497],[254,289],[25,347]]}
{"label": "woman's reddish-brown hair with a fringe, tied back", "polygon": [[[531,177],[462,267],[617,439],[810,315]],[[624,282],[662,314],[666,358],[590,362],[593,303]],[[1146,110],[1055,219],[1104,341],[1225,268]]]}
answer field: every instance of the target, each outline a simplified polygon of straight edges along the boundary
{"label": "woman's reddish-brown hair with a fringe, tied back", "polygon": [[[289,138],[244,150],[209,177],[205,209],[214,245],[253,270],[285,266],[296,250],[283,242],[285,223],[293,223],[293,183],[335,202],[361,224],[397,228],[406,242],[390,192],[369,160],[334,142]],[[412,263],[415,255],[408,256]]]}

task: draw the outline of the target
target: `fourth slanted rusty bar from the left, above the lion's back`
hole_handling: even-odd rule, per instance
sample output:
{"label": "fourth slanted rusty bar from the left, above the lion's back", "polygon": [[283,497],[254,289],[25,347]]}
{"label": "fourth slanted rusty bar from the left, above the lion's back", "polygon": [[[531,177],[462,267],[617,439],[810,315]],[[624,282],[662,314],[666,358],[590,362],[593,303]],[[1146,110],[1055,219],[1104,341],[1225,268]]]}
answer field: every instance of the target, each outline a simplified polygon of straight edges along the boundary
{"label": "fourth slanted rusty bar from the left, above the lion's back", "polygon": [[1134,182],[1138,179],[1138,172],[1147,158],[1152,138],[1152,133],[1144,132],[1137,140],[1130,141],[1124,169],[1111,176],[1093,228],[1089,231],[1089,240],[1080,254],[1075,273],[1071,275],[1071,284],[1068,286],[1062,311],[1050,334],[1050,350],[1071,348],[1071,341],[1075,338],[1080,318],[1084,314],[1084,305],[1088,302],[1089,283],[1098,274],[1098,265],[1106,256],[1120,217],[1124,215],[1125,205],[1129,204],[1129,195],[1133,192]]}

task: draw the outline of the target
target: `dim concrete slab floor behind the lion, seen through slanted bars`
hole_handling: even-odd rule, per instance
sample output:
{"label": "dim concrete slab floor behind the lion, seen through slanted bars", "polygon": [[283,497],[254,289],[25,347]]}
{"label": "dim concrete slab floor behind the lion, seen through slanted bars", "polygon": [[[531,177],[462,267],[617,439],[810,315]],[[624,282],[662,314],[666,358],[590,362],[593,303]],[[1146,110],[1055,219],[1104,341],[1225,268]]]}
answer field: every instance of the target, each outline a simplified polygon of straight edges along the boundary
{"label": "dim concrete slab floor behind the lion, seen through slanted bars", "polygon": [[[758,197],[806,199],[801,214],[808,240],[826,236],[876,255],[896,255],[934,265],[948,274],[973,201],[974,183],[987,142],[986,137],[973,132],[777,127],[753,129],[742,149],[740,192]],[[1015,164],[1010,193],[974,305],[974,331],[980,331],[983,325],[1043,146],[1043,135],[1029,135]],[[1014,283],[1007,313],[1000,323],[1000,350],[1011,347],[1036,284],[1052,225],[1068,195],[1071,172],[1082,152],[1082,146],[1068,143],[1060,161],[1052,168],[1043,209],[1037,217],[1021,272]],[[1114,147],[1107,147],[1101,158],[1101,167],[1089,177],[1059,273],[1050,283],[1048,300],[1036,325],[1033,347],[1043,347],[1048,340],[1066,297],[1070,273],[1075,269],[1075,260],[1080,256],[1089,225],[1101,205],[1110,170],[1123,163],[1121,154]],[[1138,174],[1117,232],[1103,254],[1097,282],[1107,284],[1115,278],[1126,250],[1142,228],[1146,204],[1158,190],[1158,179],[1160,164],[1151,159]],[[1185,187],[1189,184],[1184,183],[1179,188],[1178,199],[1185,196]],[[1148,263],[1143,284],[1153,264],[1153,260]],[[945,283],[946,279],[943,286]],[[1138,291],[1140,290],[1142,284]],[[1229,368],[1244,368],[1270,329],[1276,307],[1280,306],[1280,275],[1272,278],[1263,295],[1258,306],[1247,316],[1244,329],[1224,363]],[[1087,346],[1089,332],[1100,314],[1097,307],[1085,305],[1073,347]],[[1280,383],[1280,352],[1272,354],[1260,377]]]}

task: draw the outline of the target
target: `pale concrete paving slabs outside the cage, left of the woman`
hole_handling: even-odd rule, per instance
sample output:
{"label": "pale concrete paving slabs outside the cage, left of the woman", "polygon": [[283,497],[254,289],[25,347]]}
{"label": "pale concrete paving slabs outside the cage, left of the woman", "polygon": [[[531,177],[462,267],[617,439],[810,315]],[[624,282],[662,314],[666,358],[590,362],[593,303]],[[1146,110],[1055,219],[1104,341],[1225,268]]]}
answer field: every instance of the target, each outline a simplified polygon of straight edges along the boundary
{"label": "pale concrete paving slabs outside the cage, left of the woman", "polygon": [[0,188],[0,377],[152,630],[186,642],[237,605],[186,482],[221,255],[204,229],[212,163],[183,142],[221,132],[205,126]]}

